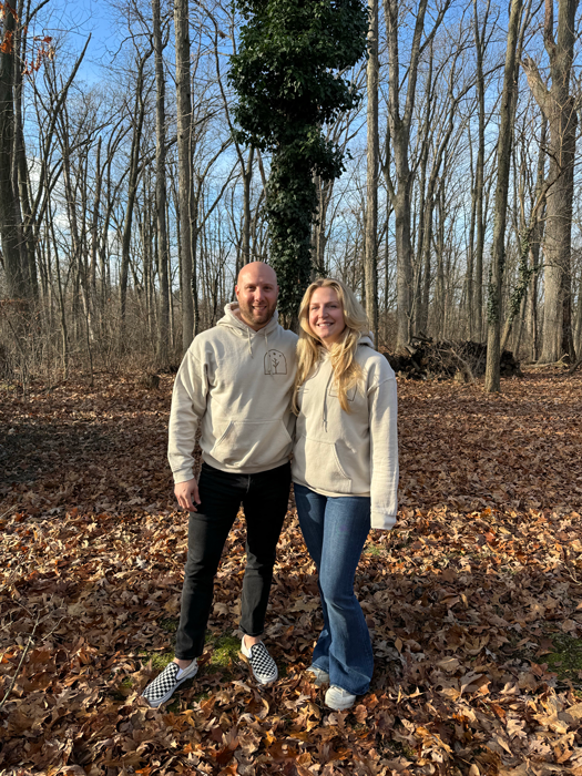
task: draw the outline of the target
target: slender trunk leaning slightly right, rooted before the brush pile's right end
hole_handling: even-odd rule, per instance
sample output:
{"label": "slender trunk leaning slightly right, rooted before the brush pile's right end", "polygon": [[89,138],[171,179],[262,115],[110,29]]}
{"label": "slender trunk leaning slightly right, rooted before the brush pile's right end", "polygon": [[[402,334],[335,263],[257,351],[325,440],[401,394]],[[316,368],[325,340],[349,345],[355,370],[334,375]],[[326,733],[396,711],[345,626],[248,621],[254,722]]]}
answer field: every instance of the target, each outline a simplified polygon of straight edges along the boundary
{"label": "slender trunk leaning slightly right, rooted before the brush pile's right end", "polygon": [[517,93],[518,37],[520,30],[523,0],[511,0],[509,18],[503,92],[500,106],[500,127],[497,144],[497,187],[494,206],[493,244],[491,248],[491,277],[488,297],[488,336],[484,390],[488,394],[499,391],[500,381],[500,340],[501,340],[501,285],[506,265],[506,222],[508,210],[509,174],[511,167],[511,146],[513,140],[513,105]]}

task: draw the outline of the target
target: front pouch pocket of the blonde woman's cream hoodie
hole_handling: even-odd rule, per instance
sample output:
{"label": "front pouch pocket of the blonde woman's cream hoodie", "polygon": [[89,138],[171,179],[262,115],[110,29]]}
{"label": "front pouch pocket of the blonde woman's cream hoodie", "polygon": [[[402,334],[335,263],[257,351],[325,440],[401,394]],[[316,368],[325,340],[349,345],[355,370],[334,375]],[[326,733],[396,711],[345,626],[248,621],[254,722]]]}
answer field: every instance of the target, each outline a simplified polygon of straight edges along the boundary
{"label": "front pouch pocket of the blonde woman's cream hoodie", "polygon": [[349,467],[341,463],[338,446],[318,439],[299,437],[294,450],[293,471],[298,479],[315,490],[329,493],[350,493]]}

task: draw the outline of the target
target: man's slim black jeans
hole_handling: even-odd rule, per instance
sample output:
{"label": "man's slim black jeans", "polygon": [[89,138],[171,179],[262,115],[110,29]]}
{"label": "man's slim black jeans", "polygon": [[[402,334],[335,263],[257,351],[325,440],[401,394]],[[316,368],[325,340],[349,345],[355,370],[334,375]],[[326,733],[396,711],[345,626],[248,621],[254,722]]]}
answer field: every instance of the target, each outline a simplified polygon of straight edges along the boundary
{"label": "man's slim black jeans", "polygon": [[243,580],[241,630],[258,636],[265,627],[275,550],[289,499],[290,466],[257,474],[233,474],[202,464],[201,504],[190,513],[188,555],[175,655],[202,654],[211,613],[214,576],[228,531],[241,503],[246,519],[246,570]]}

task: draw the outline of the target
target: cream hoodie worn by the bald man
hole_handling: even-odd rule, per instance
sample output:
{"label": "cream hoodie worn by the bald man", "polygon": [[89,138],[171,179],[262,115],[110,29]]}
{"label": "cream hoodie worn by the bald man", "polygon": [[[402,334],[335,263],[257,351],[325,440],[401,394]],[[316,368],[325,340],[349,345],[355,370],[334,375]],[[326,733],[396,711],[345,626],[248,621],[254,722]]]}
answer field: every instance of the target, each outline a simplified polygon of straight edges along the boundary
{"label": "cream hoodie worn by the bald man", "polygon": [[202,458],[222,471],[253,474],[289,460],[297,335],[277,313],[254,331],[231,303],[217,325],[194,338],[174,382],[167,458],[174,482],[194,477],[198,422]]}

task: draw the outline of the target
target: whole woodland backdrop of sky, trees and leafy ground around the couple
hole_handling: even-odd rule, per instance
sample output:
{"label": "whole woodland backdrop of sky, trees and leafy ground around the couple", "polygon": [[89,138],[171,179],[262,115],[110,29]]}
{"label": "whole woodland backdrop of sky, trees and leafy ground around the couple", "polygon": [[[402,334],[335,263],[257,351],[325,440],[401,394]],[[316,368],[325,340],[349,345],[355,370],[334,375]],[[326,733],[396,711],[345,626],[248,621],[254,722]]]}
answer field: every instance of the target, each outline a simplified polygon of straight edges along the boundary
{"label": "whole woodland backdrop of sky, trees and leafy ground around the couple", "polygon": [[[579,0],[0,11],[0,776],[582,776]],[[306,675],[292,491],[278,682],[238,652],[239,515],[155,709],[174,372],[256,259],[289,327],[346,282],[397,372],[398,520],[355,583],[375,673],[337,713]]]}

